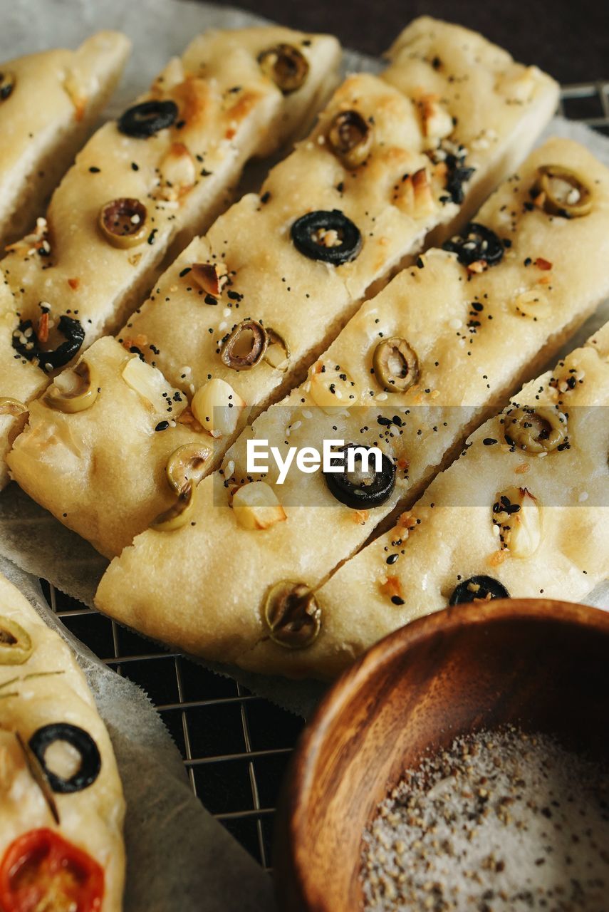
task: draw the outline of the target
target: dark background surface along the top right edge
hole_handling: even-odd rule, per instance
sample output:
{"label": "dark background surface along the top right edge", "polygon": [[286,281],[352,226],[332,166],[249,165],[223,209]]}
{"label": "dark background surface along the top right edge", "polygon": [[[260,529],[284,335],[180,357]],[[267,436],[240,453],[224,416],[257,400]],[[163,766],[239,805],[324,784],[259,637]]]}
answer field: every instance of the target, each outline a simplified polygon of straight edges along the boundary
{"label": "dark background surface along the top right edge", "polygon": [[415,16],[468,26],[537,64],[559,82],[609,79],[609,0],[238,0],[284,26],[331,32],[345,47],[379,55]]}

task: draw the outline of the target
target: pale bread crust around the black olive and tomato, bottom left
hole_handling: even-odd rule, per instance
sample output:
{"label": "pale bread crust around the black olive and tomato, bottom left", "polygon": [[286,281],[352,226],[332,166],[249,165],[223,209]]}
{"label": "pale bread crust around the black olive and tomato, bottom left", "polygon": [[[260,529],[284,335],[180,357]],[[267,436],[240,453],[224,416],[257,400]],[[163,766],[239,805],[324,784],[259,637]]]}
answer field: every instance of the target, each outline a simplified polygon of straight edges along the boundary
{"label": "pale bread crust around the black olive and tomato, bottom left", "polygon": [[[100,912],[119,912],[125,878],[122,786],[108,731],[98,716],[87,681],[67,644],[0,575],[0,615],[31,638],[23,664],[0,661],[0,858],[18,836],[48,828],[83,849],[104,869]],[[15,680],[17,679],[17,680]],[[76,793],[53,792],[57,824],[28,771],[15,732],[26,742],[42,726],[67,722],[90,734],[101,755],[95,782]]]}

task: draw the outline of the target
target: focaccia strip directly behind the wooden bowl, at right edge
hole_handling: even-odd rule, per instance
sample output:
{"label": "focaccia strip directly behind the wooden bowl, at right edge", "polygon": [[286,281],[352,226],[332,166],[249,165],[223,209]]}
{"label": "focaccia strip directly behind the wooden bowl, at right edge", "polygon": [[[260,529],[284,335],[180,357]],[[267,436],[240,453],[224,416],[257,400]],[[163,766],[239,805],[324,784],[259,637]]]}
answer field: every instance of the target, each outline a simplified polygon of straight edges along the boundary
{"label": "focaccia strip directly behind the wooden bowl, at right edge", "polygon": [[[607,451],[604,326],[528,383],[395,528],[315,592],[319,636],[285,667],[335,675],[397,627],[476,598],[580,601],[609,575]],[[261,644],[244,664],[274,668],[270,651]]]}

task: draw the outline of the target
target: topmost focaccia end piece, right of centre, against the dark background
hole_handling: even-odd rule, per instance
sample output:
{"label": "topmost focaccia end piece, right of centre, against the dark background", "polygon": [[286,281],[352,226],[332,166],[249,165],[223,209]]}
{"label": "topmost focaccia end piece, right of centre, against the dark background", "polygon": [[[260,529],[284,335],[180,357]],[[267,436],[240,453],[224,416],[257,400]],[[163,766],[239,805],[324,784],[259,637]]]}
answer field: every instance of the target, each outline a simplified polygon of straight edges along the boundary
{"label": "topmost focaccia end piece, right of centre, against the dark background", "polygon": [[[443,99],[449,98],[459,144],[468,150],[465,164],[476,169],[463,201],[470,218],[531,149],[539,136],[539,118],[546,123],[552,116],[557,98],[548,89],[556,90],[556,85],[538,67],[521,66],[476,32],[429,16],[414,19],[387,57],[383,78],[417,100],[431,137]],[[490,95],[495,103],[487,106],[481,99]],[[449,156],[444,161],[454,168]],[[431,244],[441,243],[454,229],[454,224],[440,225]]]}

